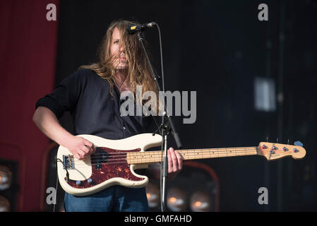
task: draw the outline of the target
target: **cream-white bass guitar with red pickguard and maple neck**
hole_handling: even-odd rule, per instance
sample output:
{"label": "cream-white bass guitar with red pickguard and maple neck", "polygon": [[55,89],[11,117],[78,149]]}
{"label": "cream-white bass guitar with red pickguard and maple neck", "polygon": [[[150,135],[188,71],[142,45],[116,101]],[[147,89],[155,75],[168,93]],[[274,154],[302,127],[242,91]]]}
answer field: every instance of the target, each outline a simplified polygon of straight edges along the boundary
{"label": "cream-white bass guitar with red pickguard and maple neck", "polygon": [[[115,184],[140,188],[148,184],[148,177],[136,174],[135,169],[147,168],[162,162],[162,150],[145,151],[160,146],[162,136],[142,133],[121,140],[99,136],[78,135],[94,143],[95,153],[78,160],[63,146],[57,150],[57,174],[64,191],[75,196],[86,196]],[[299,145],[261,142],[255,147],[208,148],[178,150],[183,160],[213,157],[261,155],[268,160],[292,156],[301,159],[306,150]]]}

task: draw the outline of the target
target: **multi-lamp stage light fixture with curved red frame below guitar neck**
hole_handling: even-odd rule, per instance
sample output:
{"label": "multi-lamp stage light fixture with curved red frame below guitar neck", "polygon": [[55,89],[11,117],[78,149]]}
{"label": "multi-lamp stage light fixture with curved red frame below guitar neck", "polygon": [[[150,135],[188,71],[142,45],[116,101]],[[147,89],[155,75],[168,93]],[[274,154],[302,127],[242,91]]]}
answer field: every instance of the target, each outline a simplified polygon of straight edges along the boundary
{"label": "multi-lamp stage light fixture with curved red frame below guitar neck", "polygon": [[[145,187],[149,210],[160,209],[160,181]],[[219,211],[220,185],[214,170],[203,163],[186,161],[184,168],[167,186],[167,211]]]}

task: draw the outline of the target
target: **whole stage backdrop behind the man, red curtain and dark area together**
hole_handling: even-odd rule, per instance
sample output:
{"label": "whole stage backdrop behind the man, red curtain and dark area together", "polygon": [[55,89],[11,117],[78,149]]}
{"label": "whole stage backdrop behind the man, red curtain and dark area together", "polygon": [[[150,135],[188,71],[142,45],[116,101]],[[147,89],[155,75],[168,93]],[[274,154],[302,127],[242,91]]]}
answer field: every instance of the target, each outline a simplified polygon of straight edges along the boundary
{"label": "whole stage backdrop behind the man, red curtain and dark area together", "polygon": [[[56,21],[47,20],[48,4],[56,5]],[[259,4],[267,4],[268,21],[258,20]],[[0,165],[13,172],[13,184],[0,196],[8,198],[11,211],[52,211],[46,191],[56,186],[58,145],[33,123],[35,103],[79,66],[97,61],[104,32],[118,19],[158,23],[165,90],[196,91],[195,123],[173,117],[182,149],[249,147],[277,138],[306,148],[302,160],[188,161],[191,167],[170,186],[208,189],[203,174],[193,170],[199,163],[219,179],[222,212],[317,210],[316,0],[0,0]],[[157,29],[145,37],[160,73]],[[254,107],[258,77],[275,83],[273,112]],[[73,130],[69,114],[61,124]],[[177,148],[172,136],[169,146]],[[258,203],[261,187],[268,189],[268,205]]]}

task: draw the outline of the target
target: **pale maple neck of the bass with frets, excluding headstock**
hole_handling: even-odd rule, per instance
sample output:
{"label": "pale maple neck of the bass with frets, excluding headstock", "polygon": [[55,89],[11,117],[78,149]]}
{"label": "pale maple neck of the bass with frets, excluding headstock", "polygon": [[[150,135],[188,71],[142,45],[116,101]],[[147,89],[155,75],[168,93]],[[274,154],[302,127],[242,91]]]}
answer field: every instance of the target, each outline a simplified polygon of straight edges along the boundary
{"label": "pale maple neck of the bass with frets, excluding headstock", "polygon": [[[258,155],[261,151],[258,147],[243,148],[208,148],[208,149],[189,149],[177,150],[183,160],[196,160],[213,157],[234,157],[245,155]],[[161,150],[146,151],[139,153],[127,153],[126,159],[128,164],[150,164],[162,162],[163,152]]]}

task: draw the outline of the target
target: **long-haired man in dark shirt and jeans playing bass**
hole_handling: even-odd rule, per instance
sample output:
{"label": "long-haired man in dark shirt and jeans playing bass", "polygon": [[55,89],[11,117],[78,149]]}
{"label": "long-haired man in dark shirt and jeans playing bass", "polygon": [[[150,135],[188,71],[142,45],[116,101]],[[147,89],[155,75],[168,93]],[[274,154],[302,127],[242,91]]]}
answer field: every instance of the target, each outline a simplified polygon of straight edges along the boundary
{"label": "long-haired man in dark shirt and jeans playing bass", "polygon": [[[128,35],[127,20],[116,20],[109,25],[100,45],[99,61],[80,66],[64,79],[55,90],[36,103],[33,121],[38,128],[59,145],[68,148],[78,160],[94,152],[93,143],[78,134],[91,134],[108,139],[122,139],[148,131],[151,116],[122,116],[120,94],[136,87],[157,93],[150,66],[145,59],[136,35]],[[142,100],[135,100],[142,102]],[[152,106],[157,106],[153,102]],[[58,119],[69,111],[73,117],[74,134],[69,133]],[[182,168],[181,155],[173,148],[168,151],[169,179]],[[158,177],[158,175],[153,175]],[[89,196],[66,193],[66,211],[147,211],[145,188],[131,189],[111,186]]]}

